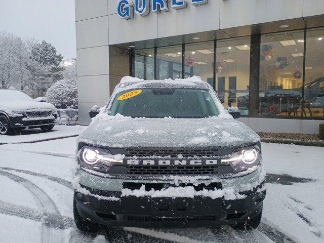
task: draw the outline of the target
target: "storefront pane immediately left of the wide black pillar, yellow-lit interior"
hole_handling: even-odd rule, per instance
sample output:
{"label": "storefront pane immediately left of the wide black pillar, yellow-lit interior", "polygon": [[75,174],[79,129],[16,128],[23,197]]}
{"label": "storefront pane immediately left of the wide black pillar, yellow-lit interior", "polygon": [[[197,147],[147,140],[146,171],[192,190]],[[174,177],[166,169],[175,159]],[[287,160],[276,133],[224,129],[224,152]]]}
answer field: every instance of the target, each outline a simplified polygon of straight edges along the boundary
{"label": "storefront pane immediately left of the wide black pillar, yellow-lit interior", "polygon": [[216,90],[224,107],[249,115],[250,37],[217,41]]}

